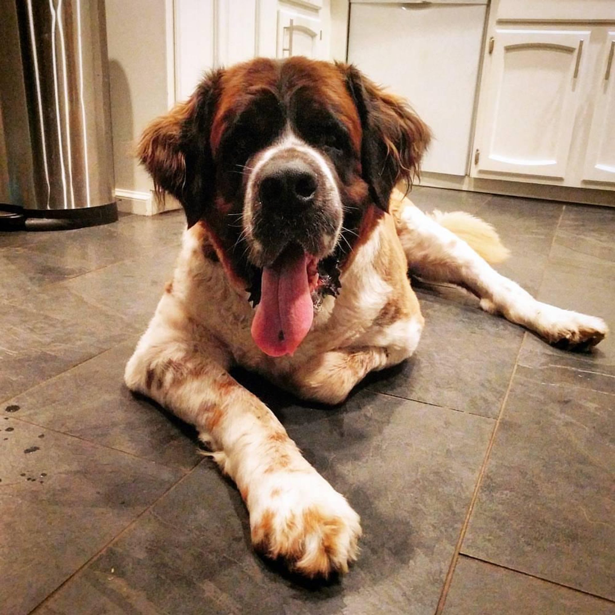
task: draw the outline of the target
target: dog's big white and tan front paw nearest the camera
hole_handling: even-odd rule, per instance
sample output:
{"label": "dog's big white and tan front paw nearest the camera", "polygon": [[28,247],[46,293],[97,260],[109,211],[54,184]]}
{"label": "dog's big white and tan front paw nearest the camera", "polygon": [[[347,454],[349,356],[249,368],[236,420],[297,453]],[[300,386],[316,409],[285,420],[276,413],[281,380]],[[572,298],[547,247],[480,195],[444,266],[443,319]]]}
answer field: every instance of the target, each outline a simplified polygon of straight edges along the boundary
{"label": "dog's big white and tan front paw nearest the camera", "polygon": [[250,500],[255,549],[284,558],[307,577],[347,572],[357,558],[359,515],[316,472],[280,472],[258,486]]}

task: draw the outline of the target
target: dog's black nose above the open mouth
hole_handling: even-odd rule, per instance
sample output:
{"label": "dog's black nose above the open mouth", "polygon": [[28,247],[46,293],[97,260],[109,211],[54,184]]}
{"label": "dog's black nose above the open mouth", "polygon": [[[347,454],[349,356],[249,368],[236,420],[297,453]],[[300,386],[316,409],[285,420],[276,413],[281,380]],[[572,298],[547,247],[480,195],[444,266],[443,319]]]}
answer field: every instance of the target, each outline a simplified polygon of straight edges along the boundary
{"label": "dog's black nose above the open mouth", "polygon": [[261,173],[258,196],[263,207],[306,207],[314,203],[318,179],[305,162],[271,161]]}

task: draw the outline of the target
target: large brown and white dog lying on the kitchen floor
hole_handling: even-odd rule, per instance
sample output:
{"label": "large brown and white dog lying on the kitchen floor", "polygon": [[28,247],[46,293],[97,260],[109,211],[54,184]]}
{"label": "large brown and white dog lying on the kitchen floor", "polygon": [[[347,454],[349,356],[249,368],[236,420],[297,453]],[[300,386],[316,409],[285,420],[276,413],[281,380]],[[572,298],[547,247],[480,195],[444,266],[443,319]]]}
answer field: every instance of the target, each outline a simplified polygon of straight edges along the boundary
{"label": "large brown and white dog lying on the kitchen floor", "polygon": [[342,402],[416,349],[423,316],[408,269],[552,344],[592,346],[607,332],[494,271],[482,256],[506,251],[488,224],[426,216],[394,192],[428,143],[403,101],[354,67],[291,58],[213,71],[138,149],[188,230],[125,381],[196,426],[239,487],[254,546],[306,576],[347,570],[359,515],[229,368]]}

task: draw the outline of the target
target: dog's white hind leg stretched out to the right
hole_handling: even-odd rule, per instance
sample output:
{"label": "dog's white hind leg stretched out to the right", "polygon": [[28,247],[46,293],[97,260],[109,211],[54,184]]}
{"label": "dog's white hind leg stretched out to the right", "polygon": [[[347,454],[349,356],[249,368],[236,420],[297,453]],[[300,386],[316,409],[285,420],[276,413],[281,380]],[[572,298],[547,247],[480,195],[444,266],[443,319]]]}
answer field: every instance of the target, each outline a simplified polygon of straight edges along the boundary
{"label": "dog's white hind leg stretched out to the right", "polygon": [[608,333],[600,318],[541,303],[501,276],[466,241],[405,201],[394,211],[395,227],[408,268],[426,280],[470,290],[480,307],[523,325],[550,344],[568,349],[595,346]]}

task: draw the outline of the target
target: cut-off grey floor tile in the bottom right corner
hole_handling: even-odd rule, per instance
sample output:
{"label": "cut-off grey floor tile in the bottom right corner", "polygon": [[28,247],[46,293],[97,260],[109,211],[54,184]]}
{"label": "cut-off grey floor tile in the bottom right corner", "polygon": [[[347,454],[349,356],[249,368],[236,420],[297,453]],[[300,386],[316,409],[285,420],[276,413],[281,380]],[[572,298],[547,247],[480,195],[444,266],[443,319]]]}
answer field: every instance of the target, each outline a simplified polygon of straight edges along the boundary
{"label": "cut-off grey floor tile in the bottom right corner", "polygon": [[499,568],[459,558],[443,615],[613,615],[615,604]]}

